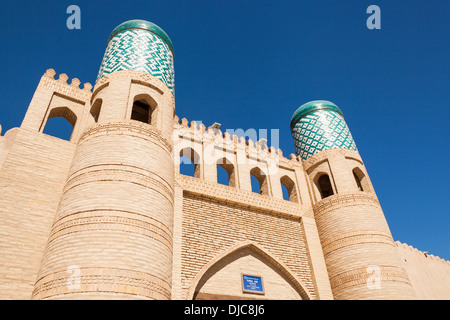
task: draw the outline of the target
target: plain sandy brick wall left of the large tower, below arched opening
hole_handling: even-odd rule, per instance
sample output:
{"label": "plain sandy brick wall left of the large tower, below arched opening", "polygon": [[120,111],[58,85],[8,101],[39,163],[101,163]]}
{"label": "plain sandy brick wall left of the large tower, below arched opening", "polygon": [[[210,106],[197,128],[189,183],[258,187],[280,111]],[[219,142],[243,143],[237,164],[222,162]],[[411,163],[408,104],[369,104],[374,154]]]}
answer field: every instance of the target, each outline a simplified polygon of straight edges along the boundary
{"label": "plain sandy brick wall left of the large tower, below arched opening", "polygon": [[75,145],[14,130],[0,171],[0,298],[30,299]]}

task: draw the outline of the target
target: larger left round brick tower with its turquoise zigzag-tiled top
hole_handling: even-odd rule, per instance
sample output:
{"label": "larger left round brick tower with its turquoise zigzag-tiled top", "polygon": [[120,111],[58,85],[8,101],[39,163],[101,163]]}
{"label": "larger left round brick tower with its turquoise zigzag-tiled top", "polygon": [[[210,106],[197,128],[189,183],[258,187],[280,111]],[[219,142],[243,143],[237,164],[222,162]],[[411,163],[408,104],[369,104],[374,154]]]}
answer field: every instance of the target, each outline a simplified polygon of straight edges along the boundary
{"label": "larger left round brick tower with its turquoise zigzag-tiled top", "polygon": [[143,20],[108,39],[34,299],[170,299],[173,47]]}

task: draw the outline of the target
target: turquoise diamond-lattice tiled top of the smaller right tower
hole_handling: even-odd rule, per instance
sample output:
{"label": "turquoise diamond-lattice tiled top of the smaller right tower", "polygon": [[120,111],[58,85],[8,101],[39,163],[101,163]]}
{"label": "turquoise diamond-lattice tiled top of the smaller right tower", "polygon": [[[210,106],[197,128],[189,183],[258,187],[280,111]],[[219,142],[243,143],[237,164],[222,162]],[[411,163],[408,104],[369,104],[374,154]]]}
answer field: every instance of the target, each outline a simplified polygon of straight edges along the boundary
{"label": "turquoise diamond-lattice tiled top of the smaller right tower", "polygon": [[342,111],[330,101],[311,101],[298,108],[292,115],[291,134],[302,160],[327,149],[357,151]]}

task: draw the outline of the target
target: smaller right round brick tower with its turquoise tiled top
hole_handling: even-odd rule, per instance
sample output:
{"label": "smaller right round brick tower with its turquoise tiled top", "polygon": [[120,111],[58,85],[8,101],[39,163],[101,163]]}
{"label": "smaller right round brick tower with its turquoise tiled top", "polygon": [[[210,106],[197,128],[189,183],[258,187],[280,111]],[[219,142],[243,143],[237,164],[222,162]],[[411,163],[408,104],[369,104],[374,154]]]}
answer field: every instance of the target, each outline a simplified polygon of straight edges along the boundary
{"label": "smaller right round brick tower with its turquoise tiled top", "polygon": [[414,299],[414,292],[341,110],[312,101],[292,116],[335,299]]}

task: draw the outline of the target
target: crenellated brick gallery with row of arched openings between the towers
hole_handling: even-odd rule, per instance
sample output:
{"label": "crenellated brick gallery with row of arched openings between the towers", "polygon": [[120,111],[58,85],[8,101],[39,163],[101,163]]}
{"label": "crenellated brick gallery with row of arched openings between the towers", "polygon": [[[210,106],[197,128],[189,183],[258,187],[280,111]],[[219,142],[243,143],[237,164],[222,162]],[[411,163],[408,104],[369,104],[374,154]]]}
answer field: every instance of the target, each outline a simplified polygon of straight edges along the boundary
{"label": "crenellated brick gallery with row of arched openings between the towers", "polygon": [[217,166],[228,173],[229,185],[237,190],[252,191],[251,176],[260,184],[260,195],[283,200],[282,185],[292,202],[308,207],[309,186],[301,159],[295,155],[283,156],[280,149],[268,146],[266,141],[253,141],[245,136],[223,132],[218,127],[174,118],[172,135],[175,170],[186,156],[195,167],[195,177],[216,183]]}

